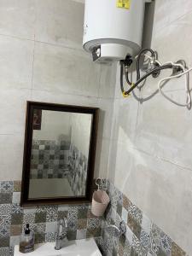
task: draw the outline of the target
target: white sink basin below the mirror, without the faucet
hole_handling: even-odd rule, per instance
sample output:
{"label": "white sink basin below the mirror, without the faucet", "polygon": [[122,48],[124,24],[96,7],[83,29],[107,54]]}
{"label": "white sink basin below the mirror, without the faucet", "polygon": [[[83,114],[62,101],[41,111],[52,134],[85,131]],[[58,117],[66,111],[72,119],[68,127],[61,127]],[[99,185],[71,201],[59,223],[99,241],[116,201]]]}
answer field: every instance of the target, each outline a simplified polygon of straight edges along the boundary
{"label": "white sink basin below the mirror, without the faucet", "polygon": [[[24,256],[19,252],[19,246],[15,246],[15,256]],[[55,242],[45,242],[35,245],[32,253],[26,253],[29,256],[102,256],[96,241],[93,238],[67,241],[65,247],[61,250],[55,250]]]}

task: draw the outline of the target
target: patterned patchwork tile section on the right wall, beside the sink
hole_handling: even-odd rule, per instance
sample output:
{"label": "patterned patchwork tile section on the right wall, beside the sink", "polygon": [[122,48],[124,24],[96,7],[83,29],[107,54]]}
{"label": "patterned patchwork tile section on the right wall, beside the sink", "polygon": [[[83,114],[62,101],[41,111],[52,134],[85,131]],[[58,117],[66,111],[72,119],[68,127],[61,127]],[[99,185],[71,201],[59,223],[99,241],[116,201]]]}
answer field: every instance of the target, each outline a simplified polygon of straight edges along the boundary
{"label": "patterned patchwork tile section on the right wall, beside the sink", "polygon": [[[113,183],[107,183],[111,199],[102,225],[99,245],[104,256],[185,256],[186,253],[154,224],[148,216],[123,195]],[[126,224],[126,235],[119,236],[110,224]]]}

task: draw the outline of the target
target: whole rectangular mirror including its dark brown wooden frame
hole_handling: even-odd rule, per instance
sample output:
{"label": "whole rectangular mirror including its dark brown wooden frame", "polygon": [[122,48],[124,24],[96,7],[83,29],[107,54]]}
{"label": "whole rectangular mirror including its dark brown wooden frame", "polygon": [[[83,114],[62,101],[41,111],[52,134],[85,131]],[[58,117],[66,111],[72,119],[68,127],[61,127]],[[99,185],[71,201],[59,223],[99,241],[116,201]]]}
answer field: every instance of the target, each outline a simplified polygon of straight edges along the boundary
{"label": "whole rectangular mirror including its dark brown wooden frame", "polygon": [[90,201],[98,108],[27,102],[21,205]]}

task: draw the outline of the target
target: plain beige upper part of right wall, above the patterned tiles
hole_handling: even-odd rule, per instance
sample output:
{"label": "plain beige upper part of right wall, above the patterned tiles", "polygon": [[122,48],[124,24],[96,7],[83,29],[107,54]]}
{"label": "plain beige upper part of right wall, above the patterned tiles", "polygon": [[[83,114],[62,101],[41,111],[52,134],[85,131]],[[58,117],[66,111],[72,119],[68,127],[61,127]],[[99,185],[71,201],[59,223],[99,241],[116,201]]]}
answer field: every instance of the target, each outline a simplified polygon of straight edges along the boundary
{"label": "plain beige upper part of right wall, above the patterned tiles", "polygon": [[[163,63],[184,59],[192,67],[192,1],[154,2],[152,49]],[[170,74],[148,78],[136,96],[125,99],[118,66],[108,178],[192,255],[192,110],[154,94],[159,80]],[[186,101],[184,79],[173,79],[163,90]]]}

